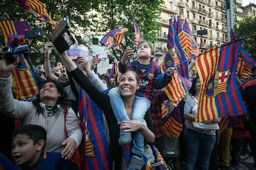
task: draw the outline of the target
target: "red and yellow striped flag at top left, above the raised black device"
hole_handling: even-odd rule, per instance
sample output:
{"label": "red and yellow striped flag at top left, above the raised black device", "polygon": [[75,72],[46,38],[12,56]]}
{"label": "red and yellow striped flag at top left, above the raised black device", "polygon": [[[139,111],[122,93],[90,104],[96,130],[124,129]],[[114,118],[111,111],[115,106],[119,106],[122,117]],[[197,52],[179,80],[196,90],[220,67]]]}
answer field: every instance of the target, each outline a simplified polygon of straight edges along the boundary
{"label": "red and yellow striped flag at top left, above the raised black device", "polygon": [[56,25],[56,22],[47,14],[46,6],[38,0],[15,0],[33,17]]}

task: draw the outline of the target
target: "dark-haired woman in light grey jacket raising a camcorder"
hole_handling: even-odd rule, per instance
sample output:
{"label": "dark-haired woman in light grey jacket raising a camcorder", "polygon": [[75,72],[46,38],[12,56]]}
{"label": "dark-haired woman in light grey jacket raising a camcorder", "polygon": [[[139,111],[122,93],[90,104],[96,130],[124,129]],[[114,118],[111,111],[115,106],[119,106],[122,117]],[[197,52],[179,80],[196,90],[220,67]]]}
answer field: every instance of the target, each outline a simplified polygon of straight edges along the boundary
{"label": "dark-haired woman in light grey jacket raising a camcorder", "polygon": [[[33,102],[15,100],[12,97],[11,71],[19,63],[6,59],[0,62],[0,111],[10,118],[20,119],[22,124],[36,124],[44,127],[47,132],[46,152],[61,152],[64,158],[70,158],[75,148],[80,145],[82,131],[66,92],[55,81],[45,81],[40,87],[40,94]],[[64,120],[64,108],[67,108]],[[65,126],[67,139],[65,139]]]}

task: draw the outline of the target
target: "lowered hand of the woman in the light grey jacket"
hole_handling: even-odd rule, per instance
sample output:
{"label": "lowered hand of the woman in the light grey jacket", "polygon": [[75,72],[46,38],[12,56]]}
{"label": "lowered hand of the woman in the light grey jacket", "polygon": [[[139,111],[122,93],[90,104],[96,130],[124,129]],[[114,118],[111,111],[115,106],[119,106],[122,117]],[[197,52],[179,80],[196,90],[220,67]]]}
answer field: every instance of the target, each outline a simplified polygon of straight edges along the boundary
{"label": "lowered hand of the woman in the light grey jacket", "polygon": [[65,145],[65,148],[61,152],[61,157],[65,160],[70,159],[75,151],[75,140],[73,138],[67,138],[62,142],[62,145]]}

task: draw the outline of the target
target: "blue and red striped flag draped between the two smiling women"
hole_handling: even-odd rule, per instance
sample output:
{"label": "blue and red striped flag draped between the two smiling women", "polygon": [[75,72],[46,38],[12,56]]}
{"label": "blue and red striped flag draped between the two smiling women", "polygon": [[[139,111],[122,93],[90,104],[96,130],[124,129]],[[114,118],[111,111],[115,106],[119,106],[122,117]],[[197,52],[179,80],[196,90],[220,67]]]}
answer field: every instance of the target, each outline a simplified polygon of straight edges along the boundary
{"label": "blue and red striped flag draped between the two smiling women", "polygon": [[84,169],[111,169],[112,162],[104,131],[103,111],[83,89],[79,92],[79,118],[84,137]]}

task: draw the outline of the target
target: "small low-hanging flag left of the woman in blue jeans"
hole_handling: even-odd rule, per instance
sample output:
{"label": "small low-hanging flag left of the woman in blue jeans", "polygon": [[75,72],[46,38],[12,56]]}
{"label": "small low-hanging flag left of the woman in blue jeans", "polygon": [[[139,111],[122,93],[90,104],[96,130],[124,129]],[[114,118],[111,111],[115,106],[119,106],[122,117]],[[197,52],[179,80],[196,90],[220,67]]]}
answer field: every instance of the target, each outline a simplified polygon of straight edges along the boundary
{"label": "small low-hanging flag left of the woman in blue jeans", "polygon": [[166,136],[171,139],[179,137],[183,130],[179,105],[173,111],[168,111],[168,114],[163,117],[163,124]]}

